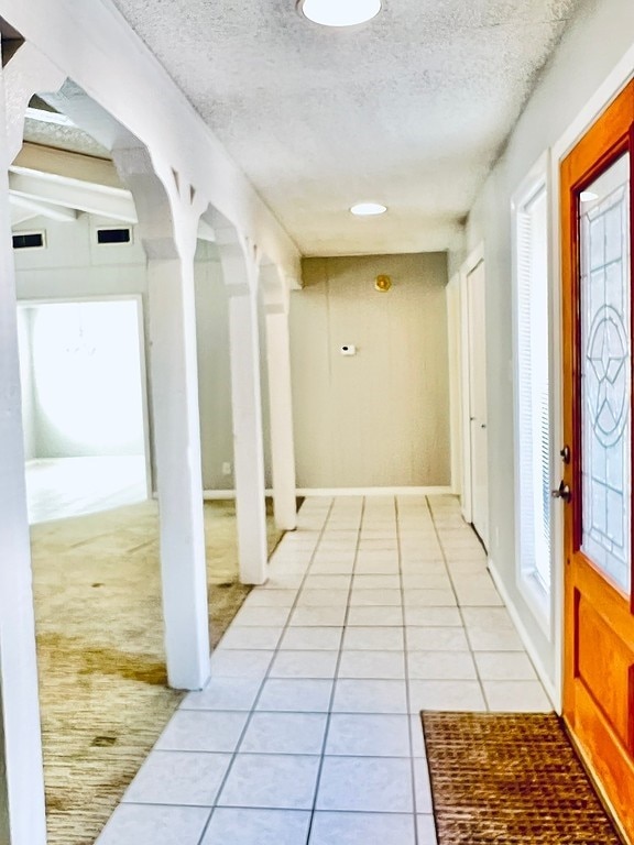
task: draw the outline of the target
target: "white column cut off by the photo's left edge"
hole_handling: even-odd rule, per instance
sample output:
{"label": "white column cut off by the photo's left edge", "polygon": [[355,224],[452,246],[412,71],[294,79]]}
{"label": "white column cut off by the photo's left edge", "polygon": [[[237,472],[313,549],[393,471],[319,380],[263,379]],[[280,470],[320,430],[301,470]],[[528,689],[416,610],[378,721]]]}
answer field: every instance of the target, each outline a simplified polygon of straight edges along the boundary
{"label": "white column cut off by the photo's left edge", "polygon": [[0,842],[45,845],[46,817],[24,484],[15,277],[0,91]]}

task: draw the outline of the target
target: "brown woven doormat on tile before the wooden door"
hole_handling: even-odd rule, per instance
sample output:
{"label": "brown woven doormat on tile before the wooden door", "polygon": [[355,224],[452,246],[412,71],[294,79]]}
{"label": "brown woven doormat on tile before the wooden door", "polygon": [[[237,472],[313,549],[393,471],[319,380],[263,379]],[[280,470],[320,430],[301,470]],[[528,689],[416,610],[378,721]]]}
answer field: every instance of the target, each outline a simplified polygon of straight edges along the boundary
{"label": "brown woven doormat on tile before the wooden door", "polygon": [[554,713],[422,717],[438,845],[621,842]]}

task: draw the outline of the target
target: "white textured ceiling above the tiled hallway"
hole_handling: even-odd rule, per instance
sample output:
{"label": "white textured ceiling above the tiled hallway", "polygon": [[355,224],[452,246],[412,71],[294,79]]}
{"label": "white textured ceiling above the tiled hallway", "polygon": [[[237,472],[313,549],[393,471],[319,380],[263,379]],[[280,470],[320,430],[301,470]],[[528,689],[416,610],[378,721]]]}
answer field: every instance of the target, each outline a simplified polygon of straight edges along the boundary
{"label": "white textured ceiling above the tiled hallway", "polygon": [[[307,255],[449,246],[579,0],[114,0]],[[357,219],[360,200],[390,207]]]}

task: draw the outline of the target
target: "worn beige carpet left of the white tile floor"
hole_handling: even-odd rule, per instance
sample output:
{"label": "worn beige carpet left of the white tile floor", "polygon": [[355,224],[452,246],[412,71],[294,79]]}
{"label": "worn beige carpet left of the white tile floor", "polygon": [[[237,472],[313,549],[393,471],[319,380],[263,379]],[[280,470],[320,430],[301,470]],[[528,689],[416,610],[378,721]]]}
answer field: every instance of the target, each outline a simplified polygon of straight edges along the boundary
{"label": "worn beige carpet left of the white tile floor", "polygon": [[[234,507],[206,503],[211,637],[238,583]],[[33,526],[51,845],[91,845],[182,693],[166,688],[154,502]],[[280,540],[269,517],[270,549]]]}

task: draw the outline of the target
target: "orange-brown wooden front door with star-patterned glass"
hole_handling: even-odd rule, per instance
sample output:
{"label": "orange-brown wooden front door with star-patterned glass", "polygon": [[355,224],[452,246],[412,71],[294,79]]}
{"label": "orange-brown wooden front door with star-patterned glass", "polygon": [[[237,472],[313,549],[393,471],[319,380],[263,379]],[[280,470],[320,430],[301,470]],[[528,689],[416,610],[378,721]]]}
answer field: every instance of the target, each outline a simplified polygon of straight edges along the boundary
{"label": "orange-brown wooden front door with star-patterned glass", "polygon": [[567,450],[560,487],[564,717],[632,842],[633,152],[634,83],[561,164]]}

